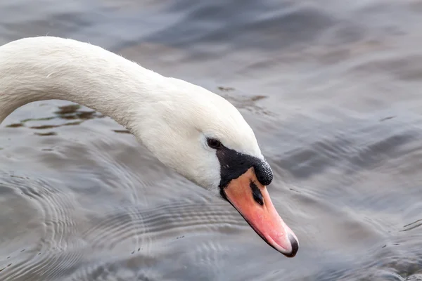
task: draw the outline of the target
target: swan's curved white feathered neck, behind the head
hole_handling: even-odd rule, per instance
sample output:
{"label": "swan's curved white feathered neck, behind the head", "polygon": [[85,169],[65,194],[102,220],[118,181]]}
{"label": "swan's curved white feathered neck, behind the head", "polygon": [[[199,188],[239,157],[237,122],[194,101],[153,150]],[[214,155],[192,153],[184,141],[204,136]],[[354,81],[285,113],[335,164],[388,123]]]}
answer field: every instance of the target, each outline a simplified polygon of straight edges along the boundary
{"label": "swan's curved white feathered neck, behind the head", "polygon": [[0,47],[0,123],[22,105],[58,99],[91,107],[130,129],[166,79],[91,44],[20,39]]}

